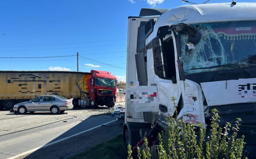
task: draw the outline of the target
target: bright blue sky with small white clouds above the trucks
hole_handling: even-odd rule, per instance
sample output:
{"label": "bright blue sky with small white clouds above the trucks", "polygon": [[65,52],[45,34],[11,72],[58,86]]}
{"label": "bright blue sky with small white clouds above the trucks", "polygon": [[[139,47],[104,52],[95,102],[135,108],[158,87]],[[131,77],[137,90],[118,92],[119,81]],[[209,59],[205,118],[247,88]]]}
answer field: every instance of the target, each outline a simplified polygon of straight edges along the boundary
{"label": "bright blue sky with small white clouds above the trucks", "polygon": [[[210,2],[231,3],[232,0]],[[139,16],[141,8],[171,9],[184,4],[188,3],[181,0],[1,0],[0,70],[77,71],[76,52],[79,52],[79,71],[109,71],[119,81],[125,81],[128,16]],[[60,57],[42,58],[52,56]]]}

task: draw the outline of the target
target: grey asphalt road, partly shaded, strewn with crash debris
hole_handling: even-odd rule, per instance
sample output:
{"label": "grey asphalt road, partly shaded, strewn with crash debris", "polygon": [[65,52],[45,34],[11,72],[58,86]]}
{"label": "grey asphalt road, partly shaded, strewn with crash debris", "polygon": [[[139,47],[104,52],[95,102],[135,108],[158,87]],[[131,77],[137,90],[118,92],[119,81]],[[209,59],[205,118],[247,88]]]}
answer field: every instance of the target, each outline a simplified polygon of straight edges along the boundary
{"label": "grey asphalt road, partly shaded, strewn with crash debris", "polygon": [[[119,104],[121,105],[117,104],[115,107],[124,107],[124,102]],[[13,115],[5,111],[7,114],[3,116],[4,112],[1,111],[0,159],[29,158],[32,155],[42,153],[42,151],[48,153],[52,151],[53,154],[48,156],[49,158],[53,155],[55,155],[54,158],[65,158],[68,155],[84,150],[85,147],[89,148],[97,143],[111,139],[116,134],[121,133],[122,126],[119,123],[123,123],[123,121],[116,120],[118,115],[105,114],[112,111],[105,107],[100,107],[97,110],[79,108],[69,110],[67,114],[62,115],[51,115],[48,112]],[[104,123],[108,123],[108,126],[102,127],[101,124]],[[95,128],[97,126],[98,128]],[[113,127],[116,127],[116,129],[113,129]],[[91,130],[92,128],[94,129]],[[103,132],[103,129],[106,132]],[[91,134],[92,132],[93,134]],[[81,137],[88,134],[92,136]],[[78,136],[84,140],[77,140]],[[80,144],[75,146],[78,143]],[[56,150],[57,147],[60,147],[59,144],[62,144],[62,148]],[[75,150],[68,152],[70,147]],[[61,151],[63,152],[56,153]],[[40,156],[47,158],[45,153],[44,155],[38,155],[36,158],[40,158]]]}

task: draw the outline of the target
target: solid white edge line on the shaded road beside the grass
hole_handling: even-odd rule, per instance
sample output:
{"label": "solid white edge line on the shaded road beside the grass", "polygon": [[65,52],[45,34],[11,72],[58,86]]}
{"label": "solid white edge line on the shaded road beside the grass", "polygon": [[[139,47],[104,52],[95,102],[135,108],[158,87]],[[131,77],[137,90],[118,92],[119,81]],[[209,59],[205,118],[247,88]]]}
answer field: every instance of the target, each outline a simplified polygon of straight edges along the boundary
{"label": "solid white edge line on the shaded road beside the grass", "polygon": [[[109,124],[109,123],[113,123],[113,122],[116,122],[116,121],[118,121],[118,119],[113,120],[113,121],[108,122],[108,123],[104,123],[104,124]],[[53,145],[53,144],[56,144],[56,143],[58,143],[58,142],[64,141],[64,140],[66,140],[66,139],[72,138],[72,137],[74,137],[74,136],[80,135],[80,134],[82,134],[82,133],[84,133],[84,132],[91,131],[91,130],[93,130],[93,129],[96,129],[96,128],[100,127],[101,125],[104,125],[104,124],[100,124],[100,125],[95,126],[95,127],[91,128],[91,129],[87,129],[87,130],[85,130],[85,131],[76,133],[76,134],[74,134],[74,135],[71,135],[71,136],[66,137],[66,138],[63,138],[63,139],[59,139],[59,140],[54,141],[54,142],[51,142],[51,143],[49,143],[49,144],[46,144],[46,145],[43,145],[43,146],[40,146],[40,147],[36,147],[36,148],[34,148],[34,149],[32,149],[32,150],[29,150],[29,151],[27,151],[27,152],[23,152],[23,153],[21,153],[21,154],[19,154],[19,155],[15,155],[15,156],[12,156],[12,157],[7,158],[7,159],[15,159],[15,158],[17,158],[17,157],[21,157],[21,156],[23,156],[23,155],[27,155],[27,154],[33,153],[33,152],[35,152],[36,150],[38,150],[38,149],[40,149],[40,148],[48,147],[48,146],[50,146],[50,145]]]}

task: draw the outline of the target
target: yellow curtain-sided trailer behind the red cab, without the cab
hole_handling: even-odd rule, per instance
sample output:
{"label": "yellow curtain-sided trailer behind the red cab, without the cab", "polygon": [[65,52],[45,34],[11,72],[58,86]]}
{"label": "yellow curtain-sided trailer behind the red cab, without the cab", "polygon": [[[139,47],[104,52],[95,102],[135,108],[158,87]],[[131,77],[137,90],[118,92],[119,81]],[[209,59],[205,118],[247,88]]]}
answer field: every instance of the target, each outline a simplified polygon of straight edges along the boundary
{"label": "yellow curtain-sided trailer behind the red cab, without the cab", "polygon": [[0,71],[0,108],[10,110],[14,104],[39,95],[81,98],[76,83],[87,91],[85,83],[90,75],[70,71]]}

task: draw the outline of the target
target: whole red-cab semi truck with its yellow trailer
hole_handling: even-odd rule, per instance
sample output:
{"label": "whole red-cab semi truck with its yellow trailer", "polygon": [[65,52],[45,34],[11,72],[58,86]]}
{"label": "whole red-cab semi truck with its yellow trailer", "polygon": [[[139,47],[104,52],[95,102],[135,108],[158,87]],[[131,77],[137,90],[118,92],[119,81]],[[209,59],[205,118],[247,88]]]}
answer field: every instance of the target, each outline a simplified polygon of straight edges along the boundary
{"label": "whole red-cab semi truck with its yellow trailer", "polygon": [[113,107],[116,89],[116,77],[106,71],[0,71],[0,108],[11,110],[40,95],[73,99],[76,107]]}

